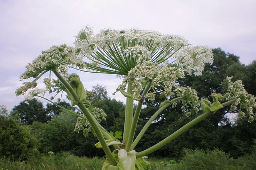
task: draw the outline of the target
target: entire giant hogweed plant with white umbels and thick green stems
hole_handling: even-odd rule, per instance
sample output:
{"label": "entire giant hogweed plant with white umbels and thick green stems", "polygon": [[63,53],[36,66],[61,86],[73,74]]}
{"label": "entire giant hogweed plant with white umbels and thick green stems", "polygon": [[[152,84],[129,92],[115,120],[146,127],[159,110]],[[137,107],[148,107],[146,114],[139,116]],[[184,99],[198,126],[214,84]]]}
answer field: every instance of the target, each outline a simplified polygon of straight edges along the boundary
{"label": "entire giant hogweed plant with white umbels and thick green stems", "polygon": [[[34,80],[24,82],[16,94],[23,94],[28,99],[40,97],[52,102],[54,97],[47,99],[42,95],[47,91],[56,95],[65,92],[72,105],[79,107],[83,114],[77,114],[52,103],[79,117],[76,131],[83,130],[84,135],[93,132],[98,138],[99,142],[95,146],[102,148],[106,154],[103,170],[147,169],[150,163],[144,156],[167,145],[187,129],[223,107],[230,106],[231,110],[239,110],[239,117],[248,114],[249,122],[255,118],[255,97],[246,92],[241,81],[232,82],[228,77],[226,94],[213,93],[211,100],[203,98],[200,101],[195,90],[179,85],[178,80],[184,78],[185,73],[200,76],[205,63],[213,62],[213,53],[208,47],[192,46],[179,36],[137,29],[105,29],[93,35],[89,27],[78,33],[74,44],[75,47],[68,47],[65,44],[53,46],[29,63],[20,78]],[[101,109],[89,106],[87,97],[91,94],[84,88],[79,75],[69,73],[71,69],[115,74],[123,78],[117,89],[117,92],[126,97],[122,141],[100,125],[106,114]],[[45,73],[49,76],[43,80],[45,89],[37,88],[37,80]],[[57,79],[51,78],[52,73]],[[165,100],[135,137],[143,102],[146,98],[154,100],[155,90],[159,86],[163,89],[161,97]],[[135,102],[138,103],[133,112]],[[152,147],[136,152],[136,145],[151,123],[167,107],[177,107],[178,102],[182,103],[184,116],[190,116],[191,112],[200,114]],[[113,146],[115,150],[111,152],[109,146]]]}

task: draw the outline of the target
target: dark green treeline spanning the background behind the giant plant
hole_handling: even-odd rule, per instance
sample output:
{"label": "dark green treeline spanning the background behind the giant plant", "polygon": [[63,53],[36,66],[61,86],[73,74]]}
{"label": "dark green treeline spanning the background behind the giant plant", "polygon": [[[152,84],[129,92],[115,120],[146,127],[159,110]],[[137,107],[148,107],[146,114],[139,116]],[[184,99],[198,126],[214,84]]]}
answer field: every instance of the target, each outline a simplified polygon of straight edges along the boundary
{"label": "dark green treeline spanning the background behind the giant plant", "polygon": [[[246,90],[256,95],[256,61],[246,66],[239,62],[239,57],[225,53],[220,48],[213,49],[214,63],[206,65],[201,77],[186,75],[180,84],[191,86],[198,92],[199,98],[209,97],[211,93],[225,92],[224,79],[233,76],[233,80],[243,80]],[[137,126],[136,135],[147,120],[157,111],[161,98],[161,88],[157,89],[155,101],[146,101]],[[106,121],[101,122],[106,130],[115,133],[123,131],[125,105],[115,99],[110,99],[106,88],[93,87],[93,97],[90,99],[94,107],[101,108],[107,114]],[[64,108],[79,113],[77,108],[69,103],[58,103]],[[135,150],[144,150],[164,139],[180,127],[197,117],[192,113],[185,117],[182,110],[168,108],[152,123],[138,143]],[[84,137],[83,131],[74,132],[77,117],[63,112],[55,105],[48,103],[46,107],[36,99],[20,102],[13,107],[10,115],[1,108],[0,117],[0,157],[13,160],[25,160],[39,153],[70,151],[77,156],[103,156],[100,149],[94,147],[97,143],[92,133]],[[236,113],[236,111],[234,111]],[[232,113],[232,115],[234,115]],[[199,113],[200,114],[200,113]],[[220,110],[209,118],[190,128],[165,147],[150,156],[181,157],[183,148],[213,150],[219,148],[232,157],[237,158],[253,151],[256,141],[256,122],[248,123],[248,118],[231,119],[229,110]]]}

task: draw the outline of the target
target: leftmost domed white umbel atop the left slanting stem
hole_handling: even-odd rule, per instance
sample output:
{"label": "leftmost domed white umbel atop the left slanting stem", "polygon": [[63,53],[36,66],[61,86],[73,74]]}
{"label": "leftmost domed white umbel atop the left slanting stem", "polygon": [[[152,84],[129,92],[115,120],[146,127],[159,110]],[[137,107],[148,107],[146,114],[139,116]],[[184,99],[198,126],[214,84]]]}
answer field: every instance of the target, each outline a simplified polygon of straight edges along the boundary
{"label": "leftmost domed white umbel atop the left slanting stem", "polygon": [[[36,81],[42,74],[52,69],[57,69],[59,73],[66,76],[68,75],[68,67],[84,68],[83,57],[66,44],[53,46],[49,50],[42,51],[42,55],[35,58],[32,63],[29,63],[27,70],[20,75],[22,79],[35,78],[32,82],[25,82],[24,85],[16,90],[16,95],[25,94],[29,88],[36,87]],[[44,80],[46,88],[49,90],[51,80]]]}

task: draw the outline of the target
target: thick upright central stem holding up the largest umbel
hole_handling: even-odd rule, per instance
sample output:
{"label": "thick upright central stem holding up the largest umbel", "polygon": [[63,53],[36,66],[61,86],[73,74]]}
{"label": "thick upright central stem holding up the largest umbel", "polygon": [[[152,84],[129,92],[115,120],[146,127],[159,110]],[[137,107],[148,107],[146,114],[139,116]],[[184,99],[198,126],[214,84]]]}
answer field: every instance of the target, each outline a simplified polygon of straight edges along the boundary
{"label": "thick upright central stem holding up the largest umbel", "polygon": [[[127,93],[133,94],[132,82],[128,83]],[[126,97],[125,105],[125,127],[123,130],[123,143],[127,143],[131,128],[131,123],[133,121],[133,99]]]}

